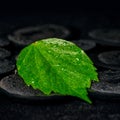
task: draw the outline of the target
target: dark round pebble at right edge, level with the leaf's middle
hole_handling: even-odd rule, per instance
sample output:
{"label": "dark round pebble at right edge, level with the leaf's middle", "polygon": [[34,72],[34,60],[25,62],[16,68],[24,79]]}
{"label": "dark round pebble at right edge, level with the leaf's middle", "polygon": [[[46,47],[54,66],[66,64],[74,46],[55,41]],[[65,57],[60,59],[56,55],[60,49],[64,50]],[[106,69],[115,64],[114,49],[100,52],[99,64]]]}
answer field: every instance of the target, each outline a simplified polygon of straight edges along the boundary
{"label": "dark round pebble at right edge, level with the leaf's middle", "polygon": [[96,66],[120,70],[120,51],[107,51],[99,54],[91,54],[91,59]]}

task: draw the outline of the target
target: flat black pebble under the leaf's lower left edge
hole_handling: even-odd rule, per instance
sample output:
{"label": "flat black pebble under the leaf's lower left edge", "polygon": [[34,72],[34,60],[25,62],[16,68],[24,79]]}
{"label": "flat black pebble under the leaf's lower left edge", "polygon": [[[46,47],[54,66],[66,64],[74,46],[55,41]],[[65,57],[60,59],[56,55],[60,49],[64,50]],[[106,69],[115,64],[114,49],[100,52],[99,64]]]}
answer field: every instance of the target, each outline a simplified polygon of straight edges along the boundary
{"label": "flat black pebble under the leaf's lower left edge", "polygon": [[31,86],[27,86],[23,79],[17,74],[12,74],[4,77],[0,81],[0,88],[3,92],[10,96],[17,98],[26,98],[32,100],[50,100],[59,99],[63,96],[51,94],[49,96],[43,94],[39,90],[33,89]]}

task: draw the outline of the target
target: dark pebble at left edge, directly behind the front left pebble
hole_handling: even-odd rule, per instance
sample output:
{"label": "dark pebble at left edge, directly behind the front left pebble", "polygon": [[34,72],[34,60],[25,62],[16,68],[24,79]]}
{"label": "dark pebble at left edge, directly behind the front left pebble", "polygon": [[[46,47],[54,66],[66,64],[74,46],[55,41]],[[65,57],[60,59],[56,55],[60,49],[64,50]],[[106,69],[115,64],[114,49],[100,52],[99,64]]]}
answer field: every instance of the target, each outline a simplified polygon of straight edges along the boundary
{"label": "dark pebble at left edge, directly behind the front left pebble", "polygon": [[6,74],[14,69],[15,65],[11,61],[7,59],[0,60],[0,75]]}

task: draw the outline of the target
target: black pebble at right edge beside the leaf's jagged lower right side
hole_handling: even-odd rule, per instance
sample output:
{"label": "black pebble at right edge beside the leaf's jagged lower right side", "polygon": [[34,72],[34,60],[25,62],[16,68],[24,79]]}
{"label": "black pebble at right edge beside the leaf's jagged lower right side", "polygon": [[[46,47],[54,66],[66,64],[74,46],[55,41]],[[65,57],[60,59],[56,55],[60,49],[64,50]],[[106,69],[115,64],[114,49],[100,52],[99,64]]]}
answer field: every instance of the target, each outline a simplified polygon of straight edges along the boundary
{"label": "black pebble at right edge beside the leaf's jagged lower right side", "polygon": [[91,89],[98,97],[120,99],[120,71],[102,71],[98,73],[99,82],[93,83]]}

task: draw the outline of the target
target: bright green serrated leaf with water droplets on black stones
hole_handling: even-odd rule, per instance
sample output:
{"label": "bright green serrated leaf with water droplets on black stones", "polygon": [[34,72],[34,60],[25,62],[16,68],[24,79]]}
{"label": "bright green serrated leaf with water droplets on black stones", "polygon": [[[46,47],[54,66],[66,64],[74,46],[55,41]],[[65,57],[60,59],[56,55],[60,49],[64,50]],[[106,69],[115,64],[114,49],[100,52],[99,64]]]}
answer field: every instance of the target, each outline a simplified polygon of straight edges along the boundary
{"label": "bright green serrated leaf with water droplets on black stones", "polygon": [[87,88],[98,81],[96,68],[74,43],[49,38],[25,47],[17,59],[18,74],[44,94],[77,96],[89,103]]}

